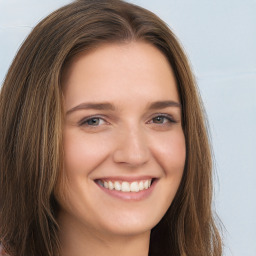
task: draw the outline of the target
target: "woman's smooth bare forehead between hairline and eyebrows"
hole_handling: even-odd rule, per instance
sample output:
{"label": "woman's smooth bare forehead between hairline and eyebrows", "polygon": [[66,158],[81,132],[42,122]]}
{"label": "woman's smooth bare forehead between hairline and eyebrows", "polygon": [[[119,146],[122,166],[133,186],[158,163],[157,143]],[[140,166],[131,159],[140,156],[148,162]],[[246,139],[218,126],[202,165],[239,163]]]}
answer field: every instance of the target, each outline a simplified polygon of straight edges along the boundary
{"label": "woman's smooth bare forehead between hairline and eyebrows", "polygon": [[112,43],[76,56],[65,69],[66,104],[90,101],[179,101],[167,58],[145,42]]}

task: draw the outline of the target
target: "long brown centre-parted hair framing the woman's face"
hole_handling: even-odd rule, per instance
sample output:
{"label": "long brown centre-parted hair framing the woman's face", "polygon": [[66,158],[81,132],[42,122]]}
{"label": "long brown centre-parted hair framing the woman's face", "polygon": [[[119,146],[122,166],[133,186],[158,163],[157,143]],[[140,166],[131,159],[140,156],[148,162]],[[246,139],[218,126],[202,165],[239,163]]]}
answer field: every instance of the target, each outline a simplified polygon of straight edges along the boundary
{"label": "long brown centre-parted hair framing the woman's face", "polygon": [[78,0],[28,36],[0,94],[0,241],[13,256],[59,255],[54,188],[63,163],[61,75],[103,43],[146,41],[168,58],[183,109],[186,164],[174,201],[151,232],[149,255],[220,256],[212,214],[206,122],[188,60],[156,15],[119,0]]}

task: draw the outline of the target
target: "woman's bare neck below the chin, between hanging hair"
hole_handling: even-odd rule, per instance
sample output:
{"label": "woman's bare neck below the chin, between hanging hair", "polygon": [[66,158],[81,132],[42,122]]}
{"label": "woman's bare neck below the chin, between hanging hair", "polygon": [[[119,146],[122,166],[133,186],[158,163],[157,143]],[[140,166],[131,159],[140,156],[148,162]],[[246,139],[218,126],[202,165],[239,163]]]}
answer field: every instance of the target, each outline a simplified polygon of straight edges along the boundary
{"label": "woman's bare neck below the chin, between hanging hair", "polygon": [[[66,223],[67,224],[67,223]],[[104,234],[74,223],[60,223],[61,256],[147,256],[150,231]]]}

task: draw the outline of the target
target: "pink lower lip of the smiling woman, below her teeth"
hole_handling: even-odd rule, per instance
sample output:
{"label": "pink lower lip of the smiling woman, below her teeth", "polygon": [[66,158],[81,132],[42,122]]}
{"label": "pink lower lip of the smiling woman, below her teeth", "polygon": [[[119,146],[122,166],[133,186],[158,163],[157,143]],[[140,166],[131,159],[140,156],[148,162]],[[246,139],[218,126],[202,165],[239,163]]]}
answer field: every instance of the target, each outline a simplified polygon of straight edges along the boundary
{"label": "pink lower lip of the smiling woman, below her teeth", "polygon": [[148,198],[151,193],[153,192],[156,183],[158,180],[155,180],[152,185],[145,190],[141,190],[139,192],[122,192],[122,191],[118,191],[118,190],[110,190],[107,188],[102,187],[101,185],[99,185],[98,183],[96,183],[98,185],[98,187],[103,190],[105,193],[107,193],[108,195],[115,197],[115,198],[119,198],[122,200],[126,200],[126,201],[140,201],[143,199]]}

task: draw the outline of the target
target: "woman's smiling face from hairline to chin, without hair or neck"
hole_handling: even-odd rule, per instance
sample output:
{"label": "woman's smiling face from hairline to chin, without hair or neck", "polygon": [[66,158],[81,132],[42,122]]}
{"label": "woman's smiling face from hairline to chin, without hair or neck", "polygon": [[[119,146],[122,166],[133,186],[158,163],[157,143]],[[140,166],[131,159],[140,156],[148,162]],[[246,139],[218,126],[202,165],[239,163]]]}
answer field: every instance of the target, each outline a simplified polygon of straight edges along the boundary
{"label": "woman's smiling face from hairline to chin, without hair or neck", "polygon": [[77,56],[63,87],[62,218],[106,235],[150,232],[175,196],[186,157],[167,59],[145,42],[107,44]]}

